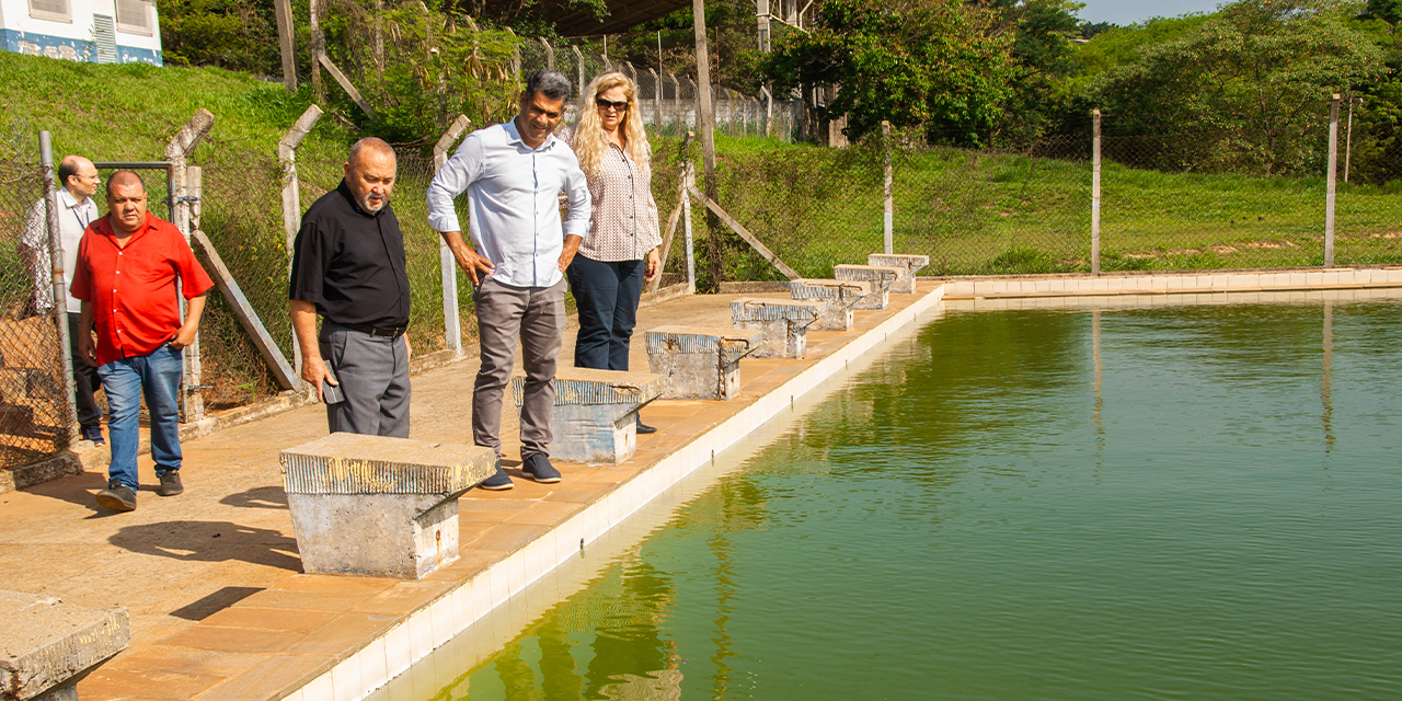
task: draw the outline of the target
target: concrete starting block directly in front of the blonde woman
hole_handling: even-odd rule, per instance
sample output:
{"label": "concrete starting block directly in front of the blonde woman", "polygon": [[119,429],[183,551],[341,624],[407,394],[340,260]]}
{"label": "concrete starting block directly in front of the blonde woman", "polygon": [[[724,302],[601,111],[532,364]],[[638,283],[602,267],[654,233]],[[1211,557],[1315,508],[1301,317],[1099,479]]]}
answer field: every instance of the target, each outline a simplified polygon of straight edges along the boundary
{"label": "concrete starting block directly in front of the blonde woman", "polygon": [[[512,397],[524,401],[526,377],[512,377]],[[662,376],[587,367],[555,372],[555,433],[551,457],[569,463],[628,460],[638,451],[638,409],[662,397]]]}

